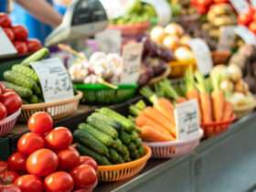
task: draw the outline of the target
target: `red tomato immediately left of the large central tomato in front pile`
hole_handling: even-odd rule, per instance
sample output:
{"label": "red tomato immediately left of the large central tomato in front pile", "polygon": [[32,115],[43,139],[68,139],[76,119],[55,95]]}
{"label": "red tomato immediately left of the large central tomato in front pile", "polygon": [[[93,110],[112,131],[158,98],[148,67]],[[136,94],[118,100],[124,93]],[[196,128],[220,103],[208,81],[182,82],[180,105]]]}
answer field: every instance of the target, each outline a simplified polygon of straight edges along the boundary
{"label": "red tomato immediately left of the large central tomato in front pile", "polygon": [[26,161],[26,155],[16,152],[7,159],[8,169],[16,172],[26,172]]}

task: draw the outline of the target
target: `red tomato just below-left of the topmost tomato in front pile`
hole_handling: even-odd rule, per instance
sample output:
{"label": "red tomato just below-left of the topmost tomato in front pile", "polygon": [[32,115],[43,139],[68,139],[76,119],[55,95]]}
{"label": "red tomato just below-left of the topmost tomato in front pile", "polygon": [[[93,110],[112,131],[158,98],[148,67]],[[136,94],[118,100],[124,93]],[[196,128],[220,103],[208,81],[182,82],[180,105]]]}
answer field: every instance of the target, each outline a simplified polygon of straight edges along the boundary
{"label": "red tomato just below-left of the topmost tomato in front pile", "polygon": [[25,133],[17,142],[17,150],[24,155],[30,155],[44,146],[44,139],[37,133]]}

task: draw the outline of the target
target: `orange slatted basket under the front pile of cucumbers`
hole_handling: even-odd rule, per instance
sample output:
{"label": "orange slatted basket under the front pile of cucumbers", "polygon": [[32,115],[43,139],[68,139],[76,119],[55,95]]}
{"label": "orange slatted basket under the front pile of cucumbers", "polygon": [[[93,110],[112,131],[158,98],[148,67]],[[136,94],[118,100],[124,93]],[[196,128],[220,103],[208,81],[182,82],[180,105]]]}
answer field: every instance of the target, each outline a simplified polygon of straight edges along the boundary
{"label": "orange slatted basket under the front pile of cucumbers", "polygon": [[120,181],[138,174],[146,165],[147,160],[151,157],[151,149],[144,145],[145,155],[132,162],[120,165],[102,165],[99,166],[98,175],[100,181],[115,182]]}

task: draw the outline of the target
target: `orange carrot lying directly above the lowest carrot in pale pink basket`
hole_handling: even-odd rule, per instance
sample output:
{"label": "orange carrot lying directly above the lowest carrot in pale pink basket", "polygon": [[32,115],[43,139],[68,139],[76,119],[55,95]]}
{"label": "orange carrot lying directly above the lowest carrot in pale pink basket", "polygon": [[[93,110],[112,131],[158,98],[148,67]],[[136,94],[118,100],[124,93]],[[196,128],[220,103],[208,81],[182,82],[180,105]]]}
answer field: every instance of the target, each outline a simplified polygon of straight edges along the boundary
{"label": "orange carrot lying directly above the lowest carrot in pale pink basket", "polygon": [[139,116],[136,117],[136,125],[139,127],[143,127],[144,125],[148,125],[151,127],[154,127],[155,130],[165,133],[165,134],[170,134],[168,129],[165,127],[162,127],[160,124],[155,123],[152,119],[148,118],[146,115],[144,115],[144,112],[141,112]]}

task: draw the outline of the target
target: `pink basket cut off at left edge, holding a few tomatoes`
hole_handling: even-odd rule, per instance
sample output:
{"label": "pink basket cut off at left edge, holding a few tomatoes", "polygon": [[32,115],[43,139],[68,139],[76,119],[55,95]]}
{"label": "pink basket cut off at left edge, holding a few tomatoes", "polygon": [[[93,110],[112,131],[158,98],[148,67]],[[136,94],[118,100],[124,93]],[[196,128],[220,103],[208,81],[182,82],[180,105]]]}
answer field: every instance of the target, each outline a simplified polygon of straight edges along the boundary
{"label": "pink basket cut off at left edge, holding a few tomatoes", "polygon": [[20,115],[21,109],[6,117],[0,121],[0,136],[5,136],[6,133],[12,131],[15,127],[18,115]]}

